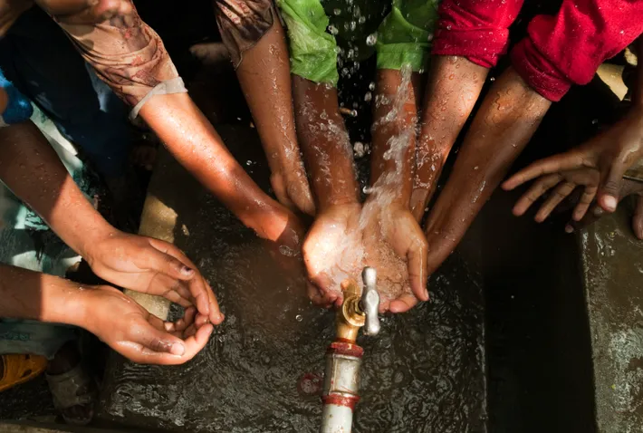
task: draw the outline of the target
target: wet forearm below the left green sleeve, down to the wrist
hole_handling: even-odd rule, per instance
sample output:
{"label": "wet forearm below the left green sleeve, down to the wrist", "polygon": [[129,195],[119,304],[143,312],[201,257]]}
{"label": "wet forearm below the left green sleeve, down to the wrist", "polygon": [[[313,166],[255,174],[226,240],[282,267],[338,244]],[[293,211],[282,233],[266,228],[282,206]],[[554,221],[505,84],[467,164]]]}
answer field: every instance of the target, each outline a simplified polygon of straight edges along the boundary
{"label": "wet forearm below the left green sleeve, down to the wrist", "polygon": [[293,77],[295,120],[320,210],[358,202],[352,149],[337,89]]}

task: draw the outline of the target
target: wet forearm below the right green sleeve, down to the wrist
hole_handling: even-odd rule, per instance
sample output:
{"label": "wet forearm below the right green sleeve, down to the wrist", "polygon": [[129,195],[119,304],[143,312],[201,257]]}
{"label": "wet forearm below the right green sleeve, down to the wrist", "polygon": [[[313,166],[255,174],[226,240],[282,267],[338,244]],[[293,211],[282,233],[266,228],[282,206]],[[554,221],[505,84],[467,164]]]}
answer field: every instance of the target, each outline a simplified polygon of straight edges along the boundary
{"label": "wet forearm below the right green sleeve, down to the wrist", "polygon": [[378,71],[377,82],[371,197],[383,195],[408,207],[413,187],[420,76],[385,69]]}

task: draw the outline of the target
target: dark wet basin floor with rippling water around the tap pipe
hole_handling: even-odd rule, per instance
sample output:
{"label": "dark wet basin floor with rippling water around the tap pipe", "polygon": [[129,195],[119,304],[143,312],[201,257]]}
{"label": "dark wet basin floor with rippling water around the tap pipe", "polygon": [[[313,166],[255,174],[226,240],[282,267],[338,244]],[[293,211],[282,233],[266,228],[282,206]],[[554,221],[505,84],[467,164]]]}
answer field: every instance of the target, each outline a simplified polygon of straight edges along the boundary
{"label": "dark wet basin floor with rippling water around the tap pipe", "polygon": [[[245,149],[245,159],[258,146],[253,130],[221,132]],[[262,178],[258,158],[248,160]],[[197,259],[226,322],[186,366],[113,360],[100,418],[176,431],[317,431],[322,405],[315,385],[333,314],[310,305],[302,279],[287,276],[176,163],[166,161],[162,172],[172,191],[154,192],[177,210],[175,243]],[[454,255],[430,290],[432,303],[387,316],[377,337],[360,338],[366,355],[355,431],[485,431],[480,276]]]}

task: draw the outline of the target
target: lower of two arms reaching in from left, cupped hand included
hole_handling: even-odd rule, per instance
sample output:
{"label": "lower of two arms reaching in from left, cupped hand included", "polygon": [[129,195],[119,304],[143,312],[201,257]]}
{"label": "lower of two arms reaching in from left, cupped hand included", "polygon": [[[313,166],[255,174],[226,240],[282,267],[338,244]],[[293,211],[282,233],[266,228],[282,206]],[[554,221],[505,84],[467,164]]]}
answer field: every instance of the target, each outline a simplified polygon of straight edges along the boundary
{"label": "lower of two arms reaching in from left, cupped hand included", "polygon": [[112,287],[79,287],[1,264],[0,297],[0,317],[80,326],[135,362],[182,364],[206,346],[213,329],[194,322],[194,308],[178,322],[163,322]]}

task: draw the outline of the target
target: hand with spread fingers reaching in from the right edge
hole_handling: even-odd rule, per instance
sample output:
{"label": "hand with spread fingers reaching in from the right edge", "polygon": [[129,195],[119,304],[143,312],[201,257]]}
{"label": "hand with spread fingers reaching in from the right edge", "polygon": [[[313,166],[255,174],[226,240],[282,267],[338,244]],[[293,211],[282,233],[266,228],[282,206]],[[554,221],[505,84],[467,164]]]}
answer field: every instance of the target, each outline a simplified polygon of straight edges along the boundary
{"label": "hand with spread fingers reaching in from the right edge", "polygon": [[[576,149],[534,162],[505,181],[503,188],[511,190],[533,178],[551,175],[539,180],[534,185],[537,188],[533,188],[533,191],[530,190],[532,195],[528,196],[529,193],[527,193],[523,199],[540,197],[544,190],[537,194],[540,190],[538,188],[548,187],[547,189],[549,189],[565,179],[565,182],[555,191],[557,197],[552,197],[553,207],[560,203],[558,194],[569,195],[573,190],[572,186],[584,185],[590,186],[585,190],[585,200],[587,197],[593,198],[594,195],[597,195],[599,206],[607,212],[614,212],[619,203],[623,175],[641,158],[643,158],[643,108],[637,105],[629,111],[624,119],[610,127],[609,130],[600,133]],[[594,170],[598,172],[598,182],[594,178],[596,176]],[[592,193],[591,188],[597,189]],[[545,203],[547,207],[542,211],[544,217],[549,215],[549,212],[546,211],[552,207],[552,203]],[[516,208],[514,208],[515,211]],[[587,206],[577,207],[574,219],[580,220],[585,211],[587,211]]]}

